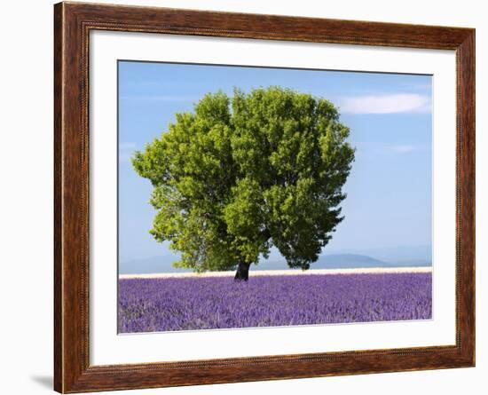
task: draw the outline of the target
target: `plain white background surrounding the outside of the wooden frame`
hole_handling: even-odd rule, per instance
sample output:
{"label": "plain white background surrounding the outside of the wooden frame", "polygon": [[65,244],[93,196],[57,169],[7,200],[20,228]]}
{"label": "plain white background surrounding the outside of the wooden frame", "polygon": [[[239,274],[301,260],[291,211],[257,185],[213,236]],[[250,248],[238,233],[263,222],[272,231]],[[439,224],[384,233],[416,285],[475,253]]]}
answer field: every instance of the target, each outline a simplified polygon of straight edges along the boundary
{"label": "plain white background surrounding the outside of the wooden frame", "polygon": [[[476,367],[131,391],[154,394],[485,393],[488,375],[488,12],[476,0],[117,0],[233,12],[303,15],[476,28]],[[52,4],[5,2],[0,61],[0,391],[51,391],[52,370]]]}

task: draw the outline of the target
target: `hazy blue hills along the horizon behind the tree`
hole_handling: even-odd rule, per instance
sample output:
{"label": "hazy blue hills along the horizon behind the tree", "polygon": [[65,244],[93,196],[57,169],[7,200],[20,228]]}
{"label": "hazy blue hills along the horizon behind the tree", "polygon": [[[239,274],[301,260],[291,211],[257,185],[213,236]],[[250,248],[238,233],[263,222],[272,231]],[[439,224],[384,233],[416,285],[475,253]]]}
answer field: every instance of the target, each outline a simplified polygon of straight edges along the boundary
{"label": "hazy blue hills along the horizon behind the tree", "polygon": [[[120,274],[133,273],[185,273],[191,269],[177,269],[171,264],[177,259],[175,256],[149,257],[146,259],[122,262],[119,266]],[[385,262],[380,259],[361,254],[325,254],[311,265],[312,269],[346,269],[367,267],[402,267],[402,266],[429,266],[430,263],[420,259],[405,260],[402,262]],[[264,260],[253,265],[251,270],[284,270],[289,269],[284,259]]]}

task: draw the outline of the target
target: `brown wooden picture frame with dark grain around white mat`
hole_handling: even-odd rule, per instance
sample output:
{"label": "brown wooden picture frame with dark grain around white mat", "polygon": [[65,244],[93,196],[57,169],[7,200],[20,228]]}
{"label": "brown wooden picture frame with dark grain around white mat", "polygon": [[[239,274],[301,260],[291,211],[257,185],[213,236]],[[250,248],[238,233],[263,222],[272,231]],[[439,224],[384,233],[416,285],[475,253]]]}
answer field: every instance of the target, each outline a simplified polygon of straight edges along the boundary
{"label": "brown wooden picture frame with dark grain around white mat", "polygon": [[[89,34],[245,37],[456,51],[456,344],[91,366]],[[54,6],[54,389],[83,392],[475,365],[475,30],[153,7]]]}

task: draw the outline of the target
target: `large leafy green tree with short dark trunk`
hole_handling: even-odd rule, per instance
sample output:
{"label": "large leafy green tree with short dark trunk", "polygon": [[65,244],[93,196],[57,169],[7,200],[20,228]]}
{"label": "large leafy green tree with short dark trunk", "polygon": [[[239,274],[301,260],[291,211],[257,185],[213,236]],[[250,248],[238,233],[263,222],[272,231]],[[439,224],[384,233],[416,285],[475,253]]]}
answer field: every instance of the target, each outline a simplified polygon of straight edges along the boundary
{"label": "large leafy green tree with short dark trunk", "polygon": [[197,272],[251,264],[275,246],[308,269],[342,221],[350,130],[326,99],[280,87],[205,95],[132,163],[153,184],[150,233]]}

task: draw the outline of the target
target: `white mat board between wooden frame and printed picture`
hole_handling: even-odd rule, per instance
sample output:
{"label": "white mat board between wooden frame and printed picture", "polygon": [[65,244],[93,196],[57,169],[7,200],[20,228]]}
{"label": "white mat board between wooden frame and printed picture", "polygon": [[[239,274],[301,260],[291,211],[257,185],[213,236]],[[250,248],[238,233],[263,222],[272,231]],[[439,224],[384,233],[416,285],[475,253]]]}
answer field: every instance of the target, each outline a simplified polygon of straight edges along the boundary
{"label": "white mat board between wooden frame and printed picture", "polygon": [[[395,62],[401,63],[400,70],[429,70],[435,72],[434,103],[437,102],[437,109],[434,111],[435,128],[435,162],[434,172],[436,173],[437,194],[435,194],[437,205],[441,209],[435,209],[435,227],[437,228],[438,240],[435,243],[435,262],[442,262],[443,265],[435,265],[434,291],[434,317],[433,320],[421,321],[390,321],[370,322],[364,324],[315,324],[314,326],[295,326],[292,328],[239,328],[238,331],[222,329],[209,333],[160,333],[143,334],[138,333],[132,336],[116,336],[114,324],[117,318],[114,317],[112,308],[116,299],[114,288],[114,268],[116,257],[109,251],[115,251],[114,234],[116,228],[115,207],[112,203],[116,199],[114,184],[115,163],[114,146],[117,118],[114,107],[115,77],[114,65],[117,59],[127,58],[132,52],[135,59],[176,59],[189,52],[189,47],[198,47],[198,51],[192,53],[193,59],[201,59],[201,53],[216,54],[221,48],[215,37],[194,37],[191,36],[158,36],[151,35],[126,35],[120,32],[91,32],[92,59],[91,59],[91,103],[97,103],[96,108],[91,108],[91,166],[98,169],[102,176],[93,176],[91,179],[91,229],[99,236],[99,241],[91,245],[91,294],[97,296],[97,304],[91,304],[91,364],[114,364],[114,363],[139,363],[176,361],[185,359],[209,359],[209,358],[230,358],[230,357],[257,357],[259,355],[289,354],[295,352],[338,352],[338,351],[359,351],[364,349],[395,347],[417,347],[433,346],[441,344],[455,344],[454,328],[454,228],[449,225],[455,221],[454,195],[450,191],[455,188],[455,62],[451,51],[434,51],[433,54],[426,54],[416,50],[392,50],[382,48],[382,57],[376,56],[374,49],[370,47],[354,46],[350,53],[354,60],[350,64],[348,52],[352,48],[342,48],[343,45],[308,43],[306,48],[299,48],[300,43],[281,43],[279,49],[273,51],[272,42],[263,43],[263,46],[256,46],[256,41],[242,39],[229,39],[227,47],[220,51],[227,55],[212,55],[216,61],[224,61],[224,58],[231,57],[234,62],[243,60],[246,57],[248,65],[251,63],[280,65],[287,63],[290,67],[305,66],[312,64],[325,68],[328,60],[342,60],[342,71],[349,71],[357,61],[367,70],[376,70],[379,67],[388,69],[395,67]],[[147,40],[143,43],[144,40]],[[239,43],[242,43],[242,47]],[[252,45],[253,54],[250,56],[245,45]],[[147,49],[144,50],[143,48]],[[231,52],[230,47],[234,48]],[[132,50],[135,48],[137,50]],[[156,51],[151,48],[158,48]],[[301,51],[299,51],[301,50]],[[298,52],[299,51],[299,52]],[[197,53],[198,52],[198,53]],[[315,56],[313,53],[319,53]],[[232,55],[235,53],[235,55]],[[239,55],[243,53],[246,55]],[[293,60],[289,56],[280,56],[280,53],[294,53],[298,59]],[[169,55],[171,54],[171,55]],[[210,56],[210,55],[207,55]],[[164,57],[164,58],[161,58]],[[170,57],[170,58],[168,58]],[[95,60],[97,59],[97,60]],[[230,59],[230,58],[229,58]],[[310,60],[308,60],[310,59]],[[379,62],[377,59],[382,59]],[[409,59],[412,64],[409,64]],[[447,60],[448,59],[448,60]],[[339,63],[335,62],[335,66]],[[422,66],[429,64],[429,67]],[[242,63],[240,63],[241,65]],[[439,67],[441,65],[442,67]],[[256,66],[255,66],[256,67]],[[310,69],[310,68],[306,68]],[[393,68],[391,68],[393,69]],[[403,73],[401,73],[403,74]],[[436,88],[437,86],[437,88]],[[452,98],[452,99],[445,99]],[[441,106],[441,102],[445,105]],[[440,116],[443,113],[452,113],[452,116]],[[440,132],[442,130],[442,132]],[[94,148],[95,147],[95,148]],[[444,147],[445,149],[440,149]],[[447,154],[445,154],[447,153]],[[441,156],[447,156],[446,162]],[[444,158],[445,159],[445,158]],[[103,169],[100,168],[103,163]],[[109,169],[110,175],[106,175]],[[442,177],[442,172],[448,172],[452,177]],[[452,170],[452,171],[451,171]],[[93,174],[93,172],[92,172]],[[444,198],[440,199],[441,196]],[[440,213],[440,214],[439,214]],[[441,232],[442,231],[442,232]],[[445,234],[447,233],[447,234]],[[97,237],[97,236],[95,236]],[[439,249],[440,245],[451,246],[450,248]],[[103,265],[96,263],[103,262]],[[442,280],[442,281],[441,281]],[[93,286],[95,284],[95,286]],[[445,297],[439,297],[443,295]],[[449,297],[447,297],[449,295]],[[452,297],[451,297],[452,296]],[[448,325],[446,325],[448,324]],[[331,328],[331,326],[333,328]],[[217,333],[218,332],[218,333]],[[239,337],[252,337],[253,341],[248,344],[239,342]],[[293,341],[286,342],[280,336],[289,336]],[[122,338],[121,338],[122,337]],[[356,340],[357,339],[357,340]],[[360,340],[364,339],[364,340]],[[184,348],[177,347],[177,344],[185,344]],[[210,344],[215,344],[210,346]],[[118,352],[114,352],[117,350]],[[164,350],[164,352],[162,352]],[[206,352],[204,352],[206,350]],[[235,351],[234,351],[235,350]],[[126,356],[125,359],[122,356]],[[130,355],[130,357],[129,357]]]}

